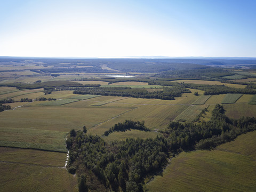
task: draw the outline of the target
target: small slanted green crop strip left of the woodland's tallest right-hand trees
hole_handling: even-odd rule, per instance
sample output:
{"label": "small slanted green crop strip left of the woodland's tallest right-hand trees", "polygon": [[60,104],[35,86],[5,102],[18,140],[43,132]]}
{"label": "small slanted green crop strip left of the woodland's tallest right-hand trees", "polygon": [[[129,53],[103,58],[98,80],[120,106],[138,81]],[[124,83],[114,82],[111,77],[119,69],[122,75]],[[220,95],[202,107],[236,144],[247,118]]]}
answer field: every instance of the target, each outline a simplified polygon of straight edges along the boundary
{"label": "small slanted green crop strip left of the woodland's tallest right-hand trees", "polygon": [[207,105],[195,105],[189,106],[181,114],[179,114],[174,121],[179,122],[193,122],[193,120],[201,113],[201,111],[206,108]]}

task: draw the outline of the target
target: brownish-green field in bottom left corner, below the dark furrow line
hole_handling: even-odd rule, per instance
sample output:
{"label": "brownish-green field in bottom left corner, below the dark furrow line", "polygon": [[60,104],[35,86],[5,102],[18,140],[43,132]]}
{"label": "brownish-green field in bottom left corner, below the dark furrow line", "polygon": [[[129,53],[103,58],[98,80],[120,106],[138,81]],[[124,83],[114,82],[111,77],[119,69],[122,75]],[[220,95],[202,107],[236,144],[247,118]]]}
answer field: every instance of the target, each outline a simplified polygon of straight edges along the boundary
{"label": "brownish-green field in bottom left corner, below the dark furrow line", "polygon": [[0,191],[78,191],[77,178],[66,169],[3,162],[0,169]]}

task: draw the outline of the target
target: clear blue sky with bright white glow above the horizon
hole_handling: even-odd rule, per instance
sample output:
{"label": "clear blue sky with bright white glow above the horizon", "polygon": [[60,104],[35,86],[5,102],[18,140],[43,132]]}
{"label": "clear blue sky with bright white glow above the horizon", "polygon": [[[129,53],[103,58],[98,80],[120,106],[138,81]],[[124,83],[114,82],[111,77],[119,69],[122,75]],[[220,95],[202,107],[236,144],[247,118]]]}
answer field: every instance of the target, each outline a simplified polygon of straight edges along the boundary
{"label": "clear blue sky with bright white glow above the horizon", "polygon": [[0,56],[256,57],[255,0],[0,0]]}

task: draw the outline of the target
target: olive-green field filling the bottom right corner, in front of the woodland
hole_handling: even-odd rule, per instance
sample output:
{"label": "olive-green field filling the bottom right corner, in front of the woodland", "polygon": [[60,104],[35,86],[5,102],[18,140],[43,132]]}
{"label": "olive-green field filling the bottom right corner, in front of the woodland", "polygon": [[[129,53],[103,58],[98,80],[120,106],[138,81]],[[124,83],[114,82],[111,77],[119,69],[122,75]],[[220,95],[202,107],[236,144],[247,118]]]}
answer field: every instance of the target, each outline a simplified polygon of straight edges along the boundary
{"label": "olive-green field filling the bottom right corner, in front of the woodland", "polygon": [[[156,176],[146,187],[148,191],[254,191],[254,137],[255,132],[247,133],[217,150],[182,152],[171,159],[163,176]],[[243,142],[249,149],[238,154],[239,149],[244,148],[239,145]]]}

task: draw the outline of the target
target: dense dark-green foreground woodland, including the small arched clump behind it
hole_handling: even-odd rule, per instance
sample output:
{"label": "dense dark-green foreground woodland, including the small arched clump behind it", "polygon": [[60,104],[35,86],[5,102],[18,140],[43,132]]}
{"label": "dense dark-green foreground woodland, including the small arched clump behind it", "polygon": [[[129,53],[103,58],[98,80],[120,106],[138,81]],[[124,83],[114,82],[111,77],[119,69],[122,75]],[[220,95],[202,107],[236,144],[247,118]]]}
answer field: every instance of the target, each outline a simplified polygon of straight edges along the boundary
{"label": "dense dark-green foreground woodland, including the small arched clump behind it", "polygon": [[[148,131],[143,122],[127,120],[105,135],[138,127]],[[209,122],[171,122],[155,139],[106,143],[97,135],[71,130],[66,142],[70,152],[68,168],[70,173],[78,174],[79,191],[93,190],[95,183],[102,191],[143,191],[145,179],[160,173],[167,160],[180,151],[211,149],[253,130],[254,117],[230,119],[220,105],[215,106]]]}

